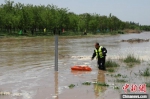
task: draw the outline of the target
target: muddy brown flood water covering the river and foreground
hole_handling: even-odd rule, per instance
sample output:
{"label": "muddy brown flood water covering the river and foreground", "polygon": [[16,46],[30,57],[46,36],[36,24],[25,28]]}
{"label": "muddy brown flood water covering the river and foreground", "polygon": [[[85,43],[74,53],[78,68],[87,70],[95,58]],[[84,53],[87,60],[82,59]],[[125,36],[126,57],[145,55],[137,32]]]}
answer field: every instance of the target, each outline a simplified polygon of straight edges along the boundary
{"label": "muddy brown flood water covering the river and foreground", "polygon": [[[150,39],[150,32],[114,36],[59,37],[59,68],[54,71],[54,38],[0,38],[0,99],[120,99],[125,82],[116,82],[115,74],[126,75],[128,84],[150,83],[150,77],[135,75],[149,67],[150,42],[120,42],[132,38]],[[99,71],[96,59],[90,60],[94,43],[107,48],[107,59],[119,62],[114,73]],[[134,54],[142,63],[128,68],[120,58]],[[71,71],[71,66],[88,65],[91,72]],[[105,82],[109,87],[82,83]],[[68,86],[74,84],[70,89]],[[119,89],[114,89],[114,86]],[[133,92],[128,92],[133,93]],[[143,93],[137,91],[136,93]],[[146,87],[146,93],[150,89]]]}

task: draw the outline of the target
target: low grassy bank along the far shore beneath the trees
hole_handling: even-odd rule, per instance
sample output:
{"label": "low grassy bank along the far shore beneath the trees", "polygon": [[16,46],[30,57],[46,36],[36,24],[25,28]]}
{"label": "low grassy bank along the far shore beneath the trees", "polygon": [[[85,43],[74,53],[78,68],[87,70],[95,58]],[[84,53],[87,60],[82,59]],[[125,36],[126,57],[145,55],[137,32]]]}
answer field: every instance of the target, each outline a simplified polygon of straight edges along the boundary
{"label": "low grassy bank along the far shore beneath the trees", "polygon": [[[73,32],[73,31],[65,31],[59,34],[59,36],[97,36],[97,35],[117,35],[117,34],[125,34],[125,33],[140,33],[140,30],[133,30],[133,29],[125,29],[125,30],[116,30],[116,31],[109,31],[109,32]],[[34,32],[31,33],[30,31],[22,32],[21,34],[18,32],[0,32],[0,37],[35,37],[35,36],[54,36],[52,31],[47,32]]]}

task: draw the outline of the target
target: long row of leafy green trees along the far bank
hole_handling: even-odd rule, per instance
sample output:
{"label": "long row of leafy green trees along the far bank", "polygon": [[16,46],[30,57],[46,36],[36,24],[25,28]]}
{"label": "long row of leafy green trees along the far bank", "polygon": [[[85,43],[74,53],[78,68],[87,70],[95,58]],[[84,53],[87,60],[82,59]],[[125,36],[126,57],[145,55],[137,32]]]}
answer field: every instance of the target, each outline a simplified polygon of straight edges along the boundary
{"label": "long row of leafy green trees along the far bank", "polygon": [[0,5],[0,32],[17,33],[43,33],[60,31],[72,32],[106,32],[124,29],[140,29],[150,31],[150,26],[142,26],[135,22],[123,22],[111,13],[109,16],[100,14],[75,14],[67,8],[59,8],[56,5],[33,5],[14,3],[5,0]]}

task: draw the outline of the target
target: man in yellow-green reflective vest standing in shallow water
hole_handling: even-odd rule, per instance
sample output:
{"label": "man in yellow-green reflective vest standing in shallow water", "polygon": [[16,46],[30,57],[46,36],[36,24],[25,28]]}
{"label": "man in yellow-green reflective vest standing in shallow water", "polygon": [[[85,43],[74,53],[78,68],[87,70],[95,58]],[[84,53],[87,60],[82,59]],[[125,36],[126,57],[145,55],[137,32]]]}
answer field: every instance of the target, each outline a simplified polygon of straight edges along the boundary
{"label": "man in yellow-green reflective vest standing in shallow water", "polygon": [[99,43],[95,43],[95,50],[91,57],[91,60],[96,56],[97,64],[99,70],[106,70],[105,68],[105,59],[106,59],[107,49],[103,46],[100,46]]}

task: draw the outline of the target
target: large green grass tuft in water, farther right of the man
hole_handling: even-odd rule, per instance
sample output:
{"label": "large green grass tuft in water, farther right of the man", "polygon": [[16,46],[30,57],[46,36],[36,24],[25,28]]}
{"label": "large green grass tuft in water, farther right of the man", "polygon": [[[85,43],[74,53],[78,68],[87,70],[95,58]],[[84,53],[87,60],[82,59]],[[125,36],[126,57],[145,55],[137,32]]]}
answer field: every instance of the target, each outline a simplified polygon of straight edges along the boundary
{"label": "large green grass tuft in water, farther right of the man", "polygon": [[127,57],[123,60],[125,63],[141,63],[139,58],[136,58],[133,54],[127,55]]}

